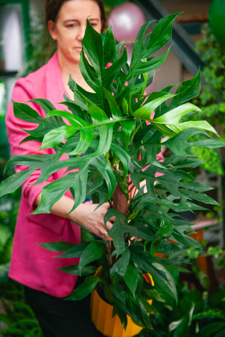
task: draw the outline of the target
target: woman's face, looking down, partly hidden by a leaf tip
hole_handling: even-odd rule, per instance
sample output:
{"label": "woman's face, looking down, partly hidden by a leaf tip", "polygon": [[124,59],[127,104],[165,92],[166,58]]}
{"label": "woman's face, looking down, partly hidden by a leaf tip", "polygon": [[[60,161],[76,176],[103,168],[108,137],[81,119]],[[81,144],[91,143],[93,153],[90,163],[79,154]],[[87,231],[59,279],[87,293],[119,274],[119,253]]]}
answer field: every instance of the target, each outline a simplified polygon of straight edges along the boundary
{"label": "woman's face, looking down, partly hidden by a leaf tip", "polygon": [[92,27],[102,30],[101,11],[93,0],[69,0],[61,6],[56,22],[48,22],[49,32],[57,41],[58,52],[72,63],[79,63],[81,41],[86,29],[87,17]]}

